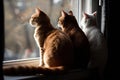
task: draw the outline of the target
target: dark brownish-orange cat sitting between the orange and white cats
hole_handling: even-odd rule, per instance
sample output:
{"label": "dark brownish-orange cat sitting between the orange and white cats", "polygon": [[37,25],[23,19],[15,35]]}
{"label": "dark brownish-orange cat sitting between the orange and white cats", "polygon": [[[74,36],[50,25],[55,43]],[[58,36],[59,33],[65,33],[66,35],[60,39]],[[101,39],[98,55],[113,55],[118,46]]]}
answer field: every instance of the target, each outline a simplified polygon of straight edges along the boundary
{"label": "dark brownish-orange cat sitting between the orange and white cats", "polygon": [[76,67],[86,68],[89,62],[89,41],[84,32],[79,28],[75,16],[72,11],[67,14],[61,11],[61,16],[58,20],[58,26],[62,31],[70,36],[74,46],[74,64]]}

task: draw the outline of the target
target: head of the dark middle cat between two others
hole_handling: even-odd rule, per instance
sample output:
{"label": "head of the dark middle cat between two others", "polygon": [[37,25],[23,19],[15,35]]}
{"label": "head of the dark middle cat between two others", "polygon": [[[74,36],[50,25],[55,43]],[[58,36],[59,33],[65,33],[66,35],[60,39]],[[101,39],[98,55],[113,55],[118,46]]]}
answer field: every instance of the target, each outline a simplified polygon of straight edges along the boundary
{"label": "head of the dark middle cat between two others", "polygon": [[69,11],[69,13],[66,13],[64,10],[61,11],[61,16],[58,19],[58,27],[60,27],[61,29],[64,29],[76,23],[77,23],[77,20],[73,15],[72,11]]}

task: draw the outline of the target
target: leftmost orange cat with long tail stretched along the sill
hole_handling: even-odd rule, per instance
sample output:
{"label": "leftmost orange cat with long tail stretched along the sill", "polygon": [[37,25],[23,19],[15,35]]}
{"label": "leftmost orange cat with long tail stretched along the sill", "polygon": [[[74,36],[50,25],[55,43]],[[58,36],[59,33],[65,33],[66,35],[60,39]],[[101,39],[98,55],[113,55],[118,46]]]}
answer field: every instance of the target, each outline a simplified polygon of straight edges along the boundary
{"label": "leftmost orange cat with long tail stretched along the sill", "polygon": [[35,27],[34,38],[40,48],[40,65],[3,68],[5,75],[61,73],[73,66],[73,45],[69,36],[53,28],[49,17],[36,9],[30,18]]}

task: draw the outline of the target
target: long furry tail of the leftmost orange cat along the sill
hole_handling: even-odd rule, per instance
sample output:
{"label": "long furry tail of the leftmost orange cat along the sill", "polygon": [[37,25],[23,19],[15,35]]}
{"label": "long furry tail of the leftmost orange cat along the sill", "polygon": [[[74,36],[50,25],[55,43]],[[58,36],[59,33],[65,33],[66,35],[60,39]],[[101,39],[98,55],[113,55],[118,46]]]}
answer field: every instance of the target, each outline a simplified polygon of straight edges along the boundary
{"label": "long furry tail of the leftmost orange cat along the sill", "polygon": [[37,74],[63,74],[66,72],[65,67],[40,67],[40,66],[18,66],[18,67],[9,67],[3,68],[3,75],[9,76],[27,76],[27,75],[37,75]]}

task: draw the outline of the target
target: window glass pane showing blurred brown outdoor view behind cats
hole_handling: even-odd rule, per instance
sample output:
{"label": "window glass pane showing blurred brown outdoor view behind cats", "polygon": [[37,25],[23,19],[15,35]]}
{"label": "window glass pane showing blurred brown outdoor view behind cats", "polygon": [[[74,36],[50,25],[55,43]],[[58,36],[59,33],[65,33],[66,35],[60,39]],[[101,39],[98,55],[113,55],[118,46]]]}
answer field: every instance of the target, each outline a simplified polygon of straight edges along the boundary
{"label": "window glass pane showing blurred brown outdoor view behind cats", "polygon": [[33,38],[34,28],[28,23],[34,9],[39,7],[57,25],[60,11],[71,10],[77,0],[4,0],[5,53],[4,60],[39,57]]}

